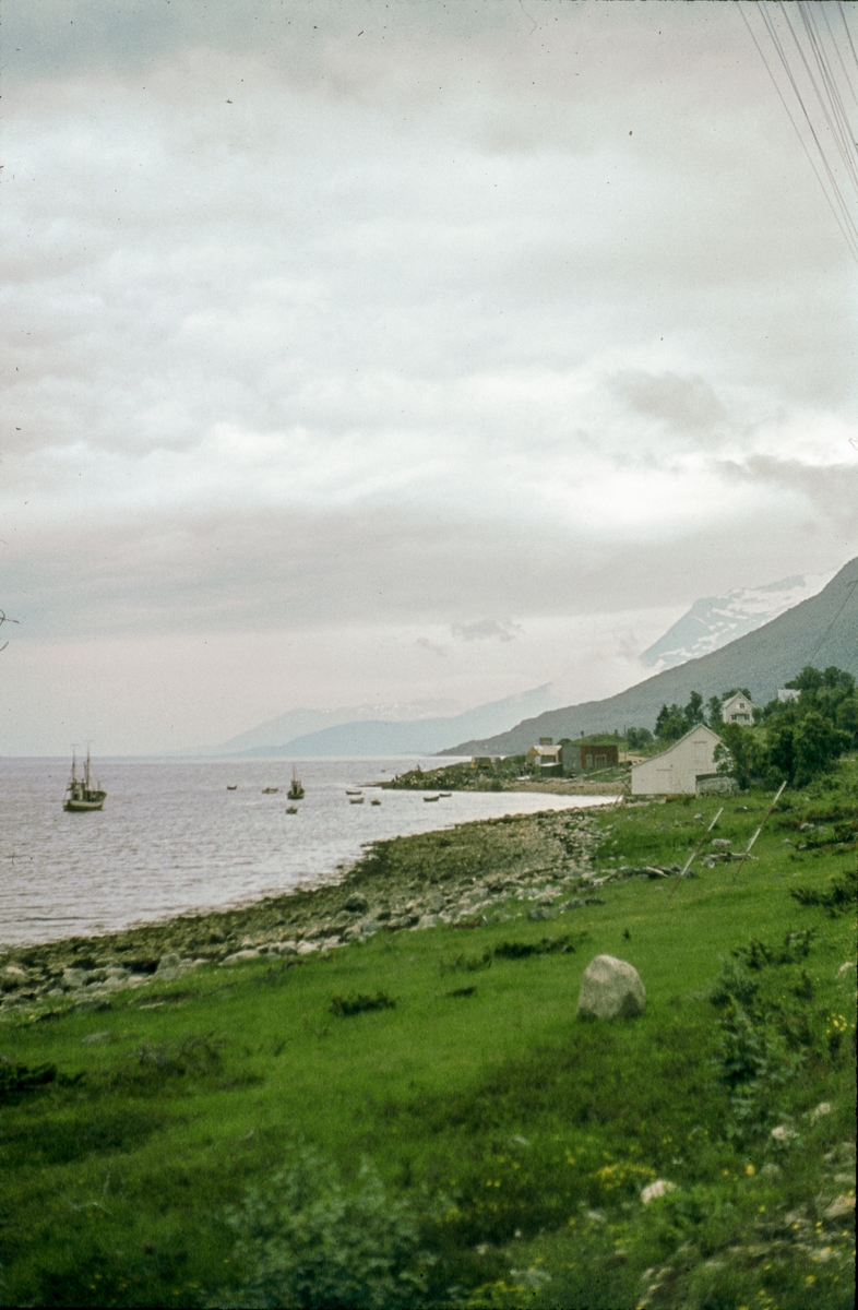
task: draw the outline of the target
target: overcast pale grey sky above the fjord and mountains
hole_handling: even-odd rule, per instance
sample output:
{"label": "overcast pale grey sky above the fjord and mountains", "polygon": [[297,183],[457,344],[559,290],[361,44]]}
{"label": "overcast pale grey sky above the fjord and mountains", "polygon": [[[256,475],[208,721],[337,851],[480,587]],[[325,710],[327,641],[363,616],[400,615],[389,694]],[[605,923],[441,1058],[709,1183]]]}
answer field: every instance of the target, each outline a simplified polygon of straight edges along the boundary
{"label": "overcast pale grey sky above the fjord and mountains", "polygon": [[753,8],[4,0],[0,753],[608,696],[855,555]]}

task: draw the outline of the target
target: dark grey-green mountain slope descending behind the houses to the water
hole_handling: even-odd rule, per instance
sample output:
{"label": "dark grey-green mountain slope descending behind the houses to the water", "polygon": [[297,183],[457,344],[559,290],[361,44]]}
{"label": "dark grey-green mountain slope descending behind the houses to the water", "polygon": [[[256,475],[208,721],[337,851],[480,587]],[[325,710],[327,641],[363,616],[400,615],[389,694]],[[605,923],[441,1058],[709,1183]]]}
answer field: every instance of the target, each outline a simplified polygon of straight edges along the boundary
{"label": "dark grey-green mountain slope descending behind the houses to the water", "polygon": [[747,686],[765,705],[804,664],[836,664],[858,676],[858,558],[845,565],[823,591],[728,646],[668,668],[605,701],[587,701],[525,719],[510,732],[460,739],[441,755],[516,755],[541,736],[575,738],[613,732],[625,726],[652,728],[665,702],[684,705],[692,692],[705,698],[731,686]]}

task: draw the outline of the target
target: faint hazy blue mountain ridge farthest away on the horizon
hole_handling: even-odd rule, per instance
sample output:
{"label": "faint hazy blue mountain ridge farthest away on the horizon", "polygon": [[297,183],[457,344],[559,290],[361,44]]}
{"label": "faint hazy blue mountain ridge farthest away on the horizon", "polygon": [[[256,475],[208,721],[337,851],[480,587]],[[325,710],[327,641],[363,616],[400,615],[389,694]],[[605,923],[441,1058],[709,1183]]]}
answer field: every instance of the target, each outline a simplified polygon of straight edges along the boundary
{"label": "faint hazy blue mountain ridge farthest away on the horizon", "polygon": [[[286,755],[308,758],[313,756],[435,755],[458,736],[487,735],[504,731],[523,714],[538,714],[551,703],[550,684],[531,692],[507,696],[503,701],[478,705],[473,710],[452,717],[423,719],[355,720],[335,723],[291,738],[280,744],[253,745],[244,751],[229,751],[240,756]],[[299,711],[308,713],[308,711]],[[284,715],[288,718],[288,715]],[[272,722],[278,722],[274,719]],[[266,724],[263,724],[266,726]],[[266,726],[267,727],[267,726]],[[233,738],[233,743],[238,740]],[[225,749],[225,748],[224,748]]]}

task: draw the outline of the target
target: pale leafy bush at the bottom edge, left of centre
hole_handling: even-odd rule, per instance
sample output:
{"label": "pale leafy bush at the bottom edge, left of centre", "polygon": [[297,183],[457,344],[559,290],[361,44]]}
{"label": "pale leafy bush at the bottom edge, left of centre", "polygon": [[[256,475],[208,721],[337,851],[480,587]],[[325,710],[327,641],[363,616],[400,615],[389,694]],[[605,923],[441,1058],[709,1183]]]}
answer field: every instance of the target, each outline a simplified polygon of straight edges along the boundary
{"label": "pale leafy bush at the bottom edge, left of centre", "polygon": [[227,1222],[245,1281],[220,1303],[286,1310],[398,1310],[420,1303],[431,1256],[406,1199],[392,1199],[368,1161],[346,1188],[309,1146],[252,1187]]}

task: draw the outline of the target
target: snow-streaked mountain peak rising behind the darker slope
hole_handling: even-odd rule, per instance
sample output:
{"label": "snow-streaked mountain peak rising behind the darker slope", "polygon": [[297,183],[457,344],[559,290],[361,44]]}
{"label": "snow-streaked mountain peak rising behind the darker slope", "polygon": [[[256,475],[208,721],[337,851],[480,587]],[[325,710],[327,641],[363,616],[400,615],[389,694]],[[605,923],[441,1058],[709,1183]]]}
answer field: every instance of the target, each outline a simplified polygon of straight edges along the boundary
{"label": "snow-streaked mountain peak rising behind the darker slope", "polygon": [[660,673],[689,659],[720,650],[737,637],[756,631],[764,624],[815,596],[833,575],[799,574],[765,587],[737,587],[726,596],[696,600],[686,614],[643,651],[641,663]]}

